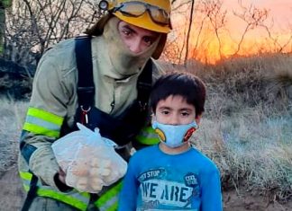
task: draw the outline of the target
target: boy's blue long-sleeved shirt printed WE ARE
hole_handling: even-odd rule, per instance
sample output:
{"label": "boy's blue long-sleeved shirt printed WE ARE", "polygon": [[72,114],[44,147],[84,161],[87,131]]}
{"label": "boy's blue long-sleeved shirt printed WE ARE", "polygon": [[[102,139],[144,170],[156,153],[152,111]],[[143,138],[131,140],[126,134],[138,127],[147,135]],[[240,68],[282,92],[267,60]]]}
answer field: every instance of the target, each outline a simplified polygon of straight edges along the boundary
{"label": "boy's blue long-sleeved shirt printed WE ARE", "polygon": [[194,148],[164,154],[158,145],[135,153],[123,180],[120,211],[222,210],[220,175]]}

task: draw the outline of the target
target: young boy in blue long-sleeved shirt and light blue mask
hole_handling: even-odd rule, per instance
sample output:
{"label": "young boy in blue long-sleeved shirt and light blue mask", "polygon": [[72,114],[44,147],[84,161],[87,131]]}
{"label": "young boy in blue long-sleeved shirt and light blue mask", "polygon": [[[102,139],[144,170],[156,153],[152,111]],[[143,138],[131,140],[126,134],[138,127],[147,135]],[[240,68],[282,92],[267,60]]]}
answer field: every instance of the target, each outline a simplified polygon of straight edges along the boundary
{"label": "young boy in blue long-sleeved shirt and light blue mask", "polygon": [[118,210],[222,210],[215,164],[189,143],[205,104],[205,84],[195,75],[163,75],[151,92],[152,127],[160,144],[133,154]]}

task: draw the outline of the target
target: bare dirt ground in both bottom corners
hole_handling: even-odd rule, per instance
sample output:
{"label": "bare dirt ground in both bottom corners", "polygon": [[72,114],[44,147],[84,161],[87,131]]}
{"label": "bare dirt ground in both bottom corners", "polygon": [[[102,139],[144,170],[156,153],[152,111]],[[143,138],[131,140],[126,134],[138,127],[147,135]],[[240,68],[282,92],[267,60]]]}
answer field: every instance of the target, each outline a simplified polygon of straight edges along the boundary
{"label": "bare dirt ground in both bottom corners", "polygon": [[[20,210],[24,193],[18,177],[17,166],[14,164],[8,171],[0,174],[0,211]],[[290,211],[292,201],[281,205],[269,203],[267,198],[244,194],[239,196],[236,191],[224,192],[224,211]]]}

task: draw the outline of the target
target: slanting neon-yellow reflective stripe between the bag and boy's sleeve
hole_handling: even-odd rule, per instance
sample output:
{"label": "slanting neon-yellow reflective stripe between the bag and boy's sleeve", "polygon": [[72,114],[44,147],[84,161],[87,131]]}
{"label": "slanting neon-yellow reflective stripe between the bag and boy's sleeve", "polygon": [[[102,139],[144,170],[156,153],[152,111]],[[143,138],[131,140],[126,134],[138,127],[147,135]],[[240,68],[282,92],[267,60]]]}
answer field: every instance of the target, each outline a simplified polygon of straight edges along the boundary
{"label": "slanting neon-yellow reflective stripe between the bag and boy's sleeve", "polygon": [[[122,180],[119,181],[113,188],[105,191],[105,193],[100,198],[98,198],[96,200],[96,202],[95,202],[96,207],[99,207],[99,208],[104,207],[105,204],[107,203],[107,201],[111,200],[112,198],[116,198],[118,196],[121,189],[122,189]],[[115,204],[117,207],[117,201],[114,202],[112,207],[114,207]],[[111,207],[109,207],[109,208],[111,208]]]}

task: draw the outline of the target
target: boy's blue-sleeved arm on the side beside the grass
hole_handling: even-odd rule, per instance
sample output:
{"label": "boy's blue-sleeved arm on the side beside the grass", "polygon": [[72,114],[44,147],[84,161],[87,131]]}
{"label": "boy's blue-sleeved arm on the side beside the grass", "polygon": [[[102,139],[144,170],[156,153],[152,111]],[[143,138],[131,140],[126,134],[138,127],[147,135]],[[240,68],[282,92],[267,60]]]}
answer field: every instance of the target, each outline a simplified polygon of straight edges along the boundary
{"label": "boy's blue-sleeved arm on the side beside the grass", "polygon": [[202,211],[222,211],[221,180],[218,169],[214,166],[212,171],[206,172],[202,177]]}

